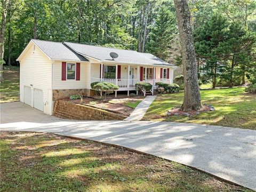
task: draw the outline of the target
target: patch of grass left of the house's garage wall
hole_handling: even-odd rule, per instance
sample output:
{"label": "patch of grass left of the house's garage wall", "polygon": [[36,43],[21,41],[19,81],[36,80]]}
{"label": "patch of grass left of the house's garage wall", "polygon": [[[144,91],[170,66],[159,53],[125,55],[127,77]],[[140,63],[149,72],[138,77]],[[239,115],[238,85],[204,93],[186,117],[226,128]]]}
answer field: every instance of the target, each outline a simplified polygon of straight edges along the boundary
{"label": "patch of grass left of the house's garage wall", "polygon": [[0,102],[12,102],[19,100],[20,73],[19,68],[4,68],[4,81],[0,86]]}

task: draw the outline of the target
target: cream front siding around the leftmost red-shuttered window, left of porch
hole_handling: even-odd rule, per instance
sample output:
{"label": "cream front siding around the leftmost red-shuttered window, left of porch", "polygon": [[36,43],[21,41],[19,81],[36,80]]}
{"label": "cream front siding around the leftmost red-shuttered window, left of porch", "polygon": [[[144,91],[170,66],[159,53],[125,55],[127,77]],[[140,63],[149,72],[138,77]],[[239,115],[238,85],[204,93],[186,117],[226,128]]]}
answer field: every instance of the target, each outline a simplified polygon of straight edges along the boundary
{"label": "cream front siding around the leftmost red-shuttered window, left of porch", "polygon": [[[66,62],[66,61],[65,61]],[[77,61],[78,62],[78,61]],[[76,62],[67,62],[67,63],[76,63]],[[67,79],[66,81],[61,81],[61,71],[62,71],[62,62],[55,61],[53,63],[53,90],[62,90],[62,89],[89,89],[88,87],[88,76],[90,63],[81,62],[80,65],[80,81],[75,79]]]}

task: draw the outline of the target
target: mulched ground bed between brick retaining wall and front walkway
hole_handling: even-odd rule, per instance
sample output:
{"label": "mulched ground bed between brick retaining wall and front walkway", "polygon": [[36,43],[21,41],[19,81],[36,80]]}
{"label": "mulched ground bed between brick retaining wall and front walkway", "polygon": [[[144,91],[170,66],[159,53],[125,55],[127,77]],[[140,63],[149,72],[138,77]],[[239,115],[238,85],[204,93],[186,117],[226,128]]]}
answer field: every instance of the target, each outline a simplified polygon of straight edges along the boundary
{"label": "mulched ground bed between brick retaining wall and front walkway", "polygon": [[[80,99],[70,100],[71,102],[79,103],[86,106],[92,106],[95,108],[114,111],[115,113],[121,113],[129,116],[133,109],[141,102],[144,97],[120,97],[120,98],[108,98],[107,100],[98,100],[92,98],[84,98],[83,103]],[[69,99],[66,99],[69,100]]]}

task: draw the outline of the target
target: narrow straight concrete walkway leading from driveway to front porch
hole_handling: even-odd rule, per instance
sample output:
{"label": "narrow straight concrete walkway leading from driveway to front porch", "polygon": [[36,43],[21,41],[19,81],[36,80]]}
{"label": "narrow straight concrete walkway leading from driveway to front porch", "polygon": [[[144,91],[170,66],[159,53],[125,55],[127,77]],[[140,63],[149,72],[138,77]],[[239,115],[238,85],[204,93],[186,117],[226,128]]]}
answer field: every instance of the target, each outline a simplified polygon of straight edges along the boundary
{"label": "narrow straight concrete walkway leading from driveway to front porch", "polygon": [[131,115],[124,119],[125,121],[136,121],[141,120],[143,116],[146,114],[149,106],[155,100],[156,95],[147,96],[143,99],[139,105],[132,111]]}

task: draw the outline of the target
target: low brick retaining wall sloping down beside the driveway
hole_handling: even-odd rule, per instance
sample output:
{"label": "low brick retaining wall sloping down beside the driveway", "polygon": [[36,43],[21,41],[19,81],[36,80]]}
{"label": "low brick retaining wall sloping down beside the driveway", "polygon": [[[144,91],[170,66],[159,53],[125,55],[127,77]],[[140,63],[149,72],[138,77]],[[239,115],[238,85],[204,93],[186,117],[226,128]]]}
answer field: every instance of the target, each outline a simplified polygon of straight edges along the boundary
{"label": "low brick retaining wall sloping down beside the driveway", "polygon": [[65,100],[57,100],[55,102],[53,115],[77,120],[123,120],[126,118],[124,115]]}

